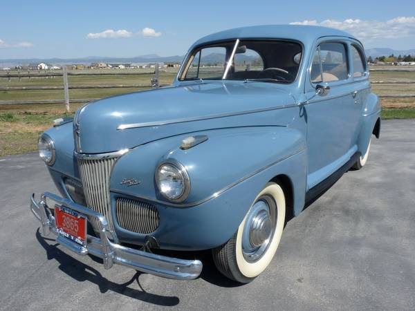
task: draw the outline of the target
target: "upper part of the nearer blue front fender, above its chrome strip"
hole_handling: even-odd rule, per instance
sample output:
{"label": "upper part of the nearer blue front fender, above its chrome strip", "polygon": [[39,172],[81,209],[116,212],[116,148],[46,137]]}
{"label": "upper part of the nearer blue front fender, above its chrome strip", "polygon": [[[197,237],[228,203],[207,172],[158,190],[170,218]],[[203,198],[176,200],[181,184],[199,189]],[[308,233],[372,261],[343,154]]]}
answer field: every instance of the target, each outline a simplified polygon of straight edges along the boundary
{"label": "upper part of the nearer blue front fender, above its chrome strip", "polygon": [[[154,172],[160,161],[175,159],[186,167],[191,181],[189,196],[177,205],[198,205],[305,148],[304,135],[286,126],[220,129],[198,134],[208,135],[209,139],[191,149],[180,149],[187,134],[130,151],[113,168],[111,191],[165,201],[155,185]],[[124,178],[140,180],[140,185],[122,185]]]}

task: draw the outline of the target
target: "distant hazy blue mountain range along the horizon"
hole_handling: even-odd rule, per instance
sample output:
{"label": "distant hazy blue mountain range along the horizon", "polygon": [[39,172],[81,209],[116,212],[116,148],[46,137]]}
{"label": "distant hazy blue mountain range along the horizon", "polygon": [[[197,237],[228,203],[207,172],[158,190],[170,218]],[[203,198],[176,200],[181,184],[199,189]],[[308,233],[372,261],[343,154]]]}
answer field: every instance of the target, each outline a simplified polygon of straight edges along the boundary
{"label": "distant hazy blue mountain range along the horizon", "polygon": [[[379,57],[379,56],[389,56],[391,54],[398,55],[415,55],[415,48],[411,50],[394,50],[392,48],[369,48],[365,50],[366,56]],[[208,57],[209,55],[207,55]],[[215,57],[210,57],[210,59],[205,59],[205,62],[214,62],[216,61],[217,55]],[[39,64],[44,62],[46,64],[91,64],[98,62],[107,62],[107,63],[166,63],[166,62],[181,62],[183,60],[183,55],[174,55],[174,56],[159,56],[156,54],[149,55],[140,55],[136,57],[102,57],[102,56],[89,56],[81,58],[31,58],[31,59],[0,59],[0,66],[17,66],[17,65],[28,65],[28,64]],[[223,56],[222,56],[223,57]],[[203,57],[202,57],[203,60]],[[220,59],[219,59],[220,60]]]}

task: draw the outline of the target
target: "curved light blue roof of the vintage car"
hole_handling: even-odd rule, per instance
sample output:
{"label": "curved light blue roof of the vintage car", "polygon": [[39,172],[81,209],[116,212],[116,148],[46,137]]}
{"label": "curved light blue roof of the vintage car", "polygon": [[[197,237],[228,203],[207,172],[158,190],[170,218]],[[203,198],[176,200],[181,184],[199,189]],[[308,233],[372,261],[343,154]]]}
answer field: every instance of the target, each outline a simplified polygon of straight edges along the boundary
{"label": "curved light blue roof of the vintage car", "polygon": [[[226,39],[291,39],[301,41],[305,46],[313,44],[315,39],[320,37],[349,37],[356,39],[353,35],[342,30],[321,26],[309,25],[264,25],[249,26],[223,30],[202,37],[196,41],[192,47],[199,46],[211,41],[221,41]],[[357,40],[357,39],[356,39]]]}

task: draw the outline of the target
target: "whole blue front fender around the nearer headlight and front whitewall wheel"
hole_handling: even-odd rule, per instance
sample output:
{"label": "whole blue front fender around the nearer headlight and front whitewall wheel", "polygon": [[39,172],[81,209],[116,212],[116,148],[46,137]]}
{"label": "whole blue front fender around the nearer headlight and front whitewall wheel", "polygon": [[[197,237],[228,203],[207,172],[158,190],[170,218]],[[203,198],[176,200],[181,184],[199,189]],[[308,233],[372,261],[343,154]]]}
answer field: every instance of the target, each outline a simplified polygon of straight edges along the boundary
{"label": "whole blue front fender around the nearer headlight and front whitewall wheel", "polygon": [[[306,152],[298,130],[266,126],[198,134],[208,135],[209,140],[187,150],[179,146],[189,134],[151,142],[122,156],[113,169],[113,200],[117,196],[138,198],[158,209],[160,224],[151,235],[163,249],[209,249],[225,243],[259,191],[277,175],[291,180],[294,213],[304,207]],[[192,189],[183,204],[169,204],[154,185],[158,162],[169,158],[185,165],[190,175]],[[122,178],[141,183],[127,187],[120,185]],[[120,241],[138,245],[145,241],[145,234],[114,225]]]}

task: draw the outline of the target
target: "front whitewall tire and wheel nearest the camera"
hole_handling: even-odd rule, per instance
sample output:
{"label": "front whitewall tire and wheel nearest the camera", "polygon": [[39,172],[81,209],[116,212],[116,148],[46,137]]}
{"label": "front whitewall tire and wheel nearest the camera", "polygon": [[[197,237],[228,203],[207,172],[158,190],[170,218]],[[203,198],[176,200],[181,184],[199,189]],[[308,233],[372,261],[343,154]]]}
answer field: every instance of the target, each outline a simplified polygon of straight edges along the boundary
{"label": "front whitewall tire and wheel nearest the camera", "polygon": [[268,182],[255,198],[237,232],[214,249],[216,268],[229,279],[249,283],[272,261],[284,229],[286,200],[282,187]]}

